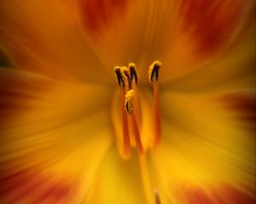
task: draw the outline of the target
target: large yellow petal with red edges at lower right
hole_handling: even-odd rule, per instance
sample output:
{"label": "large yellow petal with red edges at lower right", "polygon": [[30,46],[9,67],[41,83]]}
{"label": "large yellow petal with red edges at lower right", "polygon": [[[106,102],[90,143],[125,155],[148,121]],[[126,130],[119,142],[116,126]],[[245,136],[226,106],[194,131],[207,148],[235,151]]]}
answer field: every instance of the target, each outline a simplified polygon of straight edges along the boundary
{"label": "large yellow petal with red edges at lower right", "polygon": [[253,203],[255,92],[166,92],[161,101],[162,142],[152,159],[170,201]]}

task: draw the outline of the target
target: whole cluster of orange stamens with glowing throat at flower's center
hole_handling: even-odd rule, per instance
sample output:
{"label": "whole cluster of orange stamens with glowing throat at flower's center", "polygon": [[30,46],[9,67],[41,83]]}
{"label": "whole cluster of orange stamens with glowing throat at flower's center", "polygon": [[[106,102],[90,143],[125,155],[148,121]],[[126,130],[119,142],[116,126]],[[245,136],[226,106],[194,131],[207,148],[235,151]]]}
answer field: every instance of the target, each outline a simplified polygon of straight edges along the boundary
{"label": "whole cluster of orange stamens with glowing throat at flower's center", "polygon": [[[145,153],[148,149],[155,148],[160,143],[160,104],[158,77],[160,70],[160,61],[154,61],[148,68],[149,82],[153,88],[153,105],[149,108],[152,113],[146,114],[152,116],[152,125],[146,127],[148,133],[142,131],[145,122],[143,122],[143,98],[141,90],[138,90],[137,66],[130,63],[126,66],[116,66],[113,68],[119,85],[119,105],[121,112],[122,133],[117,133],[116,140],[120,156],[129,159],[131,149],[134,147],[139,154]],[[139,94],[140,93],[140,94]],[[114,107],[116,108],[116,107]],[[144,127],[145,129],[145,127]]]}

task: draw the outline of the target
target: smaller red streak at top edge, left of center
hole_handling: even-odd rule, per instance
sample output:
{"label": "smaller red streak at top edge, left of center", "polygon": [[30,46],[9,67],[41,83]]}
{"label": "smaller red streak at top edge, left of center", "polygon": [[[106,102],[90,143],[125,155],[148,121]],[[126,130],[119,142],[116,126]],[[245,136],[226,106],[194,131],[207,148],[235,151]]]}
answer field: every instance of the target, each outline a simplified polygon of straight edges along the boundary
{"label": "smaller red streak at top edge, left of center", "polygon": [[101,31],[125,13],[127,0],[79,0],[83,26],[90,33]]}

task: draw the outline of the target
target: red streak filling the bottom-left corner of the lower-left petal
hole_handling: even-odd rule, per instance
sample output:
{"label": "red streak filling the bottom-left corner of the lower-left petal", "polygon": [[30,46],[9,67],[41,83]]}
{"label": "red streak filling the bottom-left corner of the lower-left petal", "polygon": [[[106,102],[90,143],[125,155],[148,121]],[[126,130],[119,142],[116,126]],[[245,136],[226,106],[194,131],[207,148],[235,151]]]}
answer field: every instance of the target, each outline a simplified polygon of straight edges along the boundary
{"label": "red streak filling the bottom-left corner of the lower-left petal", "polygon": [[0,202],[7,204],[16,201],[69,203],[78,188],[77,182],[49,178],[40,173],[31,173],[30,170],[2,176],[0,181]]}

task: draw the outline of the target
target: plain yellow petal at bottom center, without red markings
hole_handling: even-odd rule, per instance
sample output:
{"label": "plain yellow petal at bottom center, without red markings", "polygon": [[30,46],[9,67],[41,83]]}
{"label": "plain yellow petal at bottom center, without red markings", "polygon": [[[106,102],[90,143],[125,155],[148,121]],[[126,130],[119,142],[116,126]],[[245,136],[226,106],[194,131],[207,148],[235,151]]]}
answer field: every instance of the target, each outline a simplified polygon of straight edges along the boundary
{"label": "plain yellow petal at bottom center, without red markings", "polygon": [[108,152],[84,203],[141,204],[146,201],[137,156],[124,161],[116,147]]}

